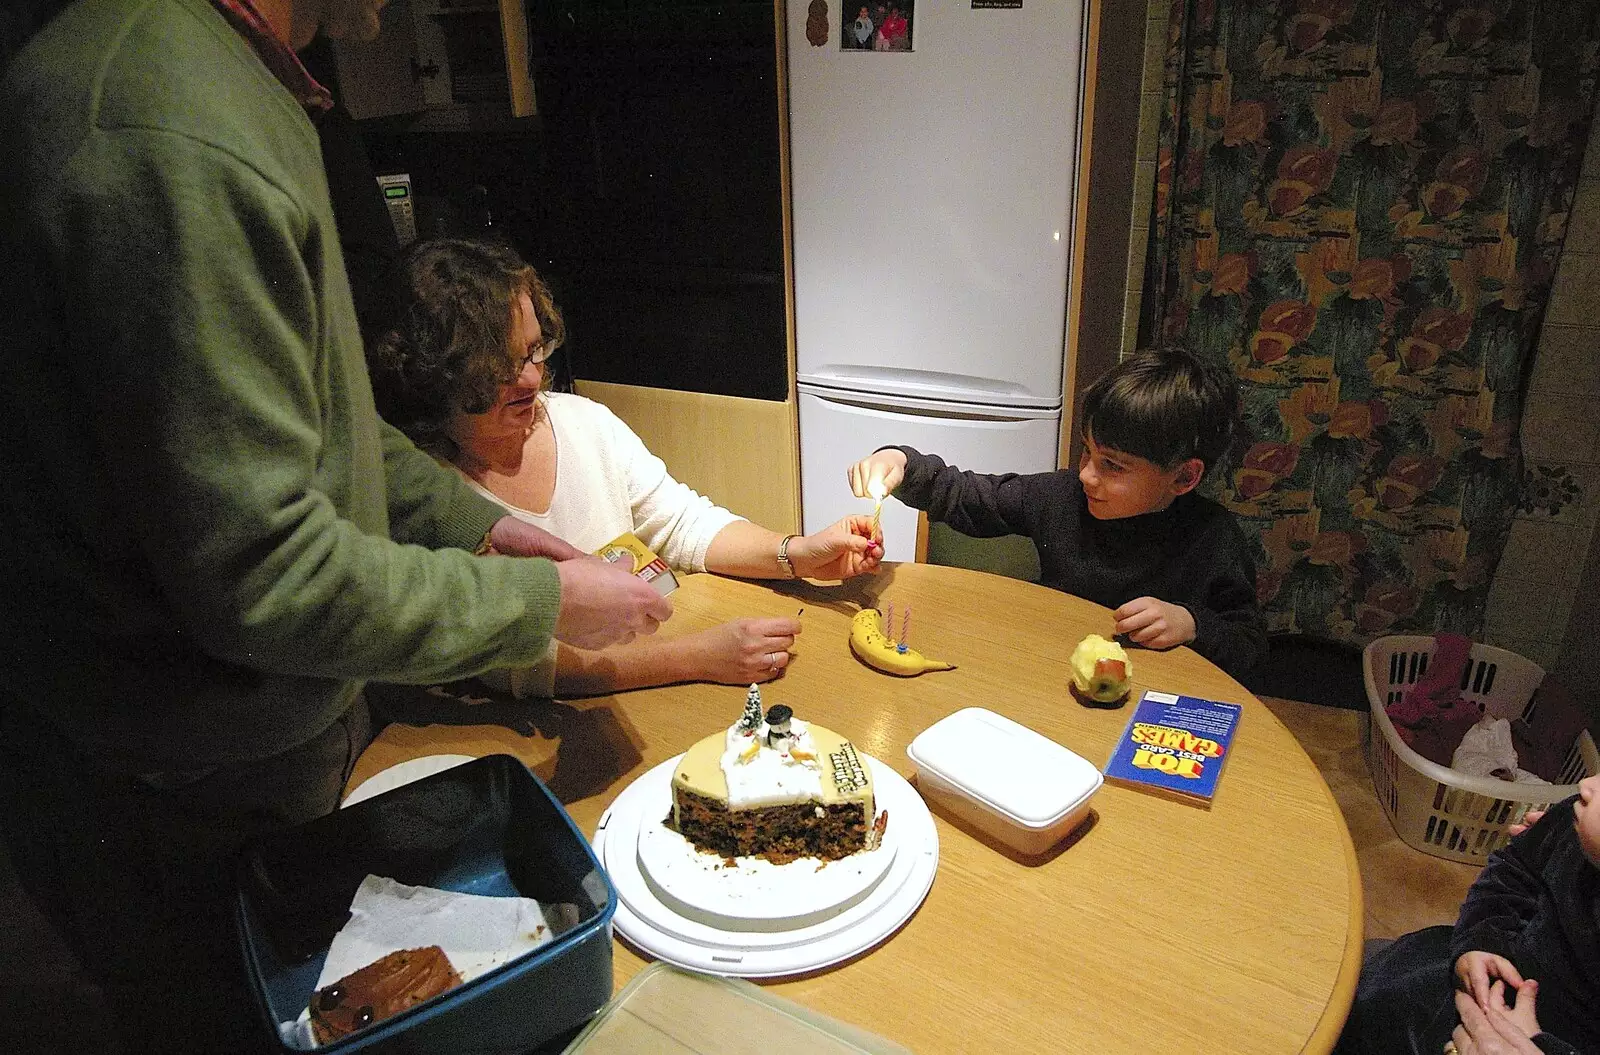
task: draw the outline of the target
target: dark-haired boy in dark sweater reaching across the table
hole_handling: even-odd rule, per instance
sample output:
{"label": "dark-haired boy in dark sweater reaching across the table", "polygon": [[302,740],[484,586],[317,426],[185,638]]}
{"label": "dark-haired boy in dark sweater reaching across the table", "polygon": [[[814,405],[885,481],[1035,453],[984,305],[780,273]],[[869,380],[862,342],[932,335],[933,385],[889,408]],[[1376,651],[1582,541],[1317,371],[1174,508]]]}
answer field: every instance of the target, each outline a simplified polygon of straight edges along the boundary
{"label": "dark-haired boy in dark sweater reaching across the table", "polygon": [[1026,535],[1040,581],[1114,608],[1117,634],[1192,645],[1240,677],[1267,650],[1254,562],[1232,514],[1194,493],[1237,405],[1226,371],[1181,349],[1139,352],[1085,394],[1077,472],[987,475],[885,447],[850,467],[850,487],[974,538]]}

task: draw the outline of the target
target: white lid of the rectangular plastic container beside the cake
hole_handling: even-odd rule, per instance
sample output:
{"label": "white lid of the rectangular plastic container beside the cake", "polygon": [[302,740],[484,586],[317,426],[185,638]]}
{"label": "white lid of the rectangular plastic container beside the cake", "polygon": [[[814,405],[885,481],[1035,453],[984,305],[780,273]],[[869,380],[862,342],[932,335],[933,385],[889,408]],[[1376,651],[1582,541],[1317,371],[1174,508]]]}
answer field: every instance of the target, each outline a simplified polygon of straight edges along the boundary
{"label": "white lid of the rectangular plastic container beside the cake", "polygon": [[1011,719],[965,708],[922,730],[906,754],[1022,828],[1050,828],[1104,780],[1080,754]]}

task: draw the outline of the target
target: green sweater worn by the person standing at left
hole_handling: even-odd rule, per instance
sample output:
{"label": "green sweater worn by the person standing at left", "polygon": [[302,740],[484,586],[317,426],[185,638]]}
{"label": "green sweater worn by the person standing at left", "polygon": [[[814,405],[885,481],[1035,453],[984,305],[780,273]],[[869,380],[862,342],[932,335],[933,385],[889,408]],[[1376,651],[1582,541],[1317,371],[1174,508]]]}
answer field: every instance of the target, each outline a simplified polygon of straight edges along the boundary
{"label": "green sweater worn by the person standing at left", "polygon": [[317,133],[206,0],[62,13],[0,157],[0,706],[195,768],[544,655],[555,567],[378,418]]}

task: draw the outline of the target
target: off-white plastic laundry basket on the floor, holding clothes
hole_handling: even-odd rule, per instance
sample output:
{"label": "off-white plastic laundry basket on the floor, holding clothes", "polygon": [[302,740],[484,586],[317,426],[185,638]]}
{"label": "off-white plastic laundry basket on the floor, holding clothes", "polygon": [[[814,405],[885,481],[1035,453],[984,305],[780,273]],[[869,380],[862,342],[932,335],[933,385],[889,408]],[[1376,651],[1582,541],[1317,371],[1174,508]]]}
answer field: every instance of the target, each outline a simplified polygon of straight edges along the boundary
{"label": "off-white plastic laundry basket on the floor, holding clothes", "polygon": [[[1528,810],[1542,810],[1578,794],[1578,781],[1600,772],[1600,752],[1589,730],[1566,749],[1560,783],[1518,784],[1507,780],[1467,776],[1429,762],[1400,740],[1387,706],[1400,701],[1434,656],[1432,637],[1379,637],[1362,653],[1366,676],[1366,765],[1373,772],[1378,800],[1389,813],[1395,834],[1408,845],[1451,861],[1482,864],[1506,845],[1507,829]],[[1541,716],[1533,690],[1544,669],[1515,652],[1472,645],[1461,677],[1461,695],[1477,701],[1493,717],[1523,719],[1538,736]]]}

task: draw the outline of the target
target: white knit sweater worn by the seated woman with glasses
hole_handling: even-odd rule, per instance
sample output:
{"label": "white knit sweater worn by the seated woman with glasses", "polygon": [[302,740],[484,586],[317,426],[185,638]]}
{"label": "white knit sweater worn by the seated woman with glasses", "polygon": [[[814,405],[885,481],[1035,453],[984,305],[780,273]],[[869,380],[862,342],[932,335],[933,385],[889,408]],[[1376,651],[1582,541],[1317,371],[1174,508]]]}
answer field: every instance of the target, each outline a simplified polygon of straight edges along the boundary
{"label": "white knit sweater worn by the seated woman with glasses", "polygon": [[[706,570],[706,551],[717,532],[742,517],[678,483],[667,464],[650,453],[632,429],[602,403],[547,392],[539,397],[555,431],[555,491],[546,512],[518,509],[467,480],[485,498],[520,520],[594,552],[632,532],[674,568]],[[507,674],[496,677],[494,674]],[[542,663],[486,676],[491,685],[518,696],[549,696],[555,685],[555,645]]]}

